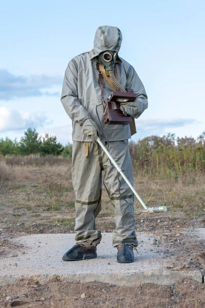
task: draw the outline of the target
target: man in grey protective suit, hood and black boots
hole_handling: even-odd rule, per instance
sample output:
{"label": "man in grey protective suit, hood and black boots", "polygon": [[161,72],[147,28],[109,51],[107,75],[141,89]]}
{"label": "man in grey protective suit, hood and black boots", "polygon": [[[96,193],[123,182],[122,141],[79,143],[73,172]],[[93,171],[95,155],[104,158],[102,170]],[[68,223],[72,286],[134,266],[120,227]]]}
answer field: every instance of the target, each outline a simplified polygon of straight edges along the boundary
{"label": "man in grey protective suit, hood and black boots", "polygon": [[[63,83],[61,103],[72,120],[73,152],[72,181],[75,191],[75,241],[76,244],[63,256],[64,261],[96,258],[96,246],[101,233],[97,230],[95,219],[101,210],[102,171],[104,185],[115,207],[113,246],[117,247],[117,262],[134,261],[133,247],[138,245],[134,222],[134,195],[120,178],[117,170],[96,142],[97,136],[107,145],[109,152],[128,180],[133,184],[132,163],[128,140],[131,138],[130,125],[106,125],[103,104],[100,103],[100,81],[97,65],[106,71],[115,66],[115,76],[120,85],[133,89],[134,102],[120,105],[124,115],[137,119],[148,107],[147,94],[134,68],[118,56],[122,41],[117,27],[101,26],[96,30],[92,51],[75,56],[68,64]],[[110,54],[104,56],[105,51]],[[111,60],[108,59],[111,56]],[[110,63],[107,63],[110,62]],[[109,78],[109,74],[107,74]],[[107,82],[104,97],[108,98],[112,89]],[[96,110],[97,109],[97,110]],[[135,131],[136,132],[136,131]]]}

